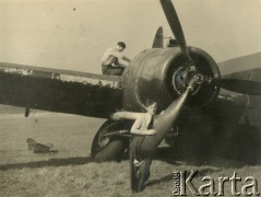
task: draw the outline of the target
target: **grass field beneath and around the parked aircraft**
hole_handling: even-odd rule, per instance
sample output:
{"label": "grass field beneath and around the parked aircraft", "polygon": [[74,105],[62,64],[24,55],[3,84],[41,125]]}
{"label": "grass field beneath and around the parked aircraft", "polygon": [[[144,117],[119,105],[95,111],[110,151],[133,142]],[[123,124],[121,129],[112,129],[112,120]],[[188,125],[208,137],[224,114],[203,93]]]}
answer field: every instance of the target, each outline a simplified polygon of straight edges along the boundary
{"label": "grass field beneath and around the parked aircraft", "polygon": [[[209,162],[170,161],[168,155],[175,155],[175,151],[171,153],[164,148],[153,161],[147,187],[142,193],[132,194],[127,160],[95,163],[90,158],[93,137],[103,119],[33,113],[28,118],[22,114],[1,115],[0,121],[1,197],[171,196],[173,172],[176,170],[198,170],[193,179],[198,186],[204,184],[204,176],[213,177],[217,184],[220,176],[232,177],[234,172],[242,177],[237,185],[239,192],[246,185],[247,176],[254,176],[261,184],[260,165],[249,166],[218,158]],[[58,152],[35,154],[28,151],[26,139],[29,137],[43,143],[54,143]],[[192,196],[189,190],[187,194]],[[229,183],[225,183],[225,196],[232,196]]]}

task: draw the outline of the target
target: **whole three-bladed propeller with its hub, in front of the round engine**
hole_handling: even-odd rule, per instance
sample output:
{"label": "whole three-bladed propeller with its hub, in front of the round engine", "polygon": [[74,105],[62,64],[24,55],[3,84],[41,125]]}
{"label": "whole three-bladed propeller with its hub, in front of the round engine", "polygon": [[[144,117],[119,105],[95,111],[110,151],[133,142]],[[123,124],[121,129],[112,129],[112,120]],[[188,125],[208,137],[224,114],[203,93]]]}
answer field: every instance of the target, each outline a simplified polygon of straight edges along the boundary
{"label": "whole three-bladed propeller with its hub, in front of the round engine", "polygon": [[[181,53],[187,57],[187,60],[192,63],[192,59],[188,51],[183,32],[177,12],[171,3],[171,0],[161,0],[161,3],[169,23],[169,26],[179,44]],[[210,79],[206,76],[200,76],[200,81],[194,78],[197,77],[195,74],[190,77],[190,79],[187,79],[189,83],[185,83],[185,91],[181,93],[181,95],[166,108],[164,115],[159,115],[157,117],[154,123],[154,129],[156,130],[156,135],[146,136],[140,148],[141,152],[143,152],[145,155],[153,155],[157,146],[161,143],[161,141],[165,138],[166,134],[177,121],[180,113],[182,112],[186,101],[190,96],[190,93],[193,92],[193,89],[197,86],[197,84],[201,84],[201,82],[204,81],[205,83],[215,84],[234,92],[261,95],[261,82],[258,81],[235,79],[234,76],[228,76],[222,79]]]}

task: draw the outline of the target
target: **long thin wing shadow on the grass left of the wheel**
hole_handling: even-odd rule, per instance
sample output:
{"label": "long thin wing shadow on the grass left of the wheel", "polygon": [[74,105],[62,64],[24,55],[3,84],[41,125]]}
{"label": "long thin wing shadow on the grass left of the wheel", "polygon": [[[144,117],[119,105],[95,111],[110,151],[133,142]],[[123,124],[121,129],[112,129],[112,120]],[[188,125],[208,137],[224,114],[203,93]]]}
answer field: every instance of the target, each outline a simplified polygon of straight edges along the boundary
{"label": "long thin wing shadow on the grass left of the wheel", "polygon": [[0,165],[0,171],[7,171],[12,169],[23,169],[23,167],[37,169],[37,167],[46,167],[46,166],[83,165],[90,162],[93,162],[92,157],[50,159],[48,161],[4,164],[4,165]]}

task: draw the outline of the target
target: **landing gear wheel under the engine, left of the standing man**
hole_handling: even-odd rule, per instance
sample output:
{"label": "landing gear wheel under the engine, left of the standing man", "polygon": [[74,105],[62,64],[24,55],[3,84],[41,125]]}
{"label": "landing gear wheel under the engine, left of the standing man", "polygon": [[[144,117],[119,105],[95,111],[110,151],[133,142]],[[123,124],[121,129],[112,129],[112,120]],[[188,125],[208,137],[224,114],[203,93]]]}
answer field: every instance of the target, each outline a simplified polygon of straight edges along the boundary
{"label": "landing gear wheel under the engine, left of the standing man", "polygon": [[107,120],[98,129],[92,143],[95,161],[120,161],[129,146],[130,135],[124,121]]}

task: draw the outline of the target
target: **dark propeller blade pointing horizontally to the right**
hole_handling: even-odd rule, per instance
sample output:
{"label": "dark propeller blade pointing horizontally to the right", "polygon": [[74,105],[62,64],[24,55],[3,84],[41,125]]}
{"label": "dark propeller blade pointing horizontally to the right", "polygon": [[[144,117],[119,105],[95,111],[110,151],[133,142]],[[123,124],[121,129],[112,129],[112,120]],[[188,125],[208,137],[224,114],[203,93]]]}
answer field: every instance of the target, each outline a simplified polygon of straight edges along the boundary
{"label": "dark propeller blade pointing horizontally to the right", "polygon": [[261,82],[242,79],[223,78],[214,81],[223,89],[250,95],[261,95]]}

